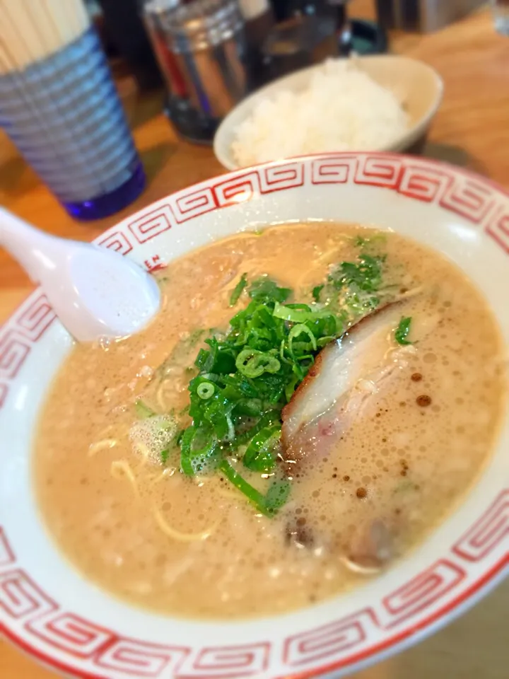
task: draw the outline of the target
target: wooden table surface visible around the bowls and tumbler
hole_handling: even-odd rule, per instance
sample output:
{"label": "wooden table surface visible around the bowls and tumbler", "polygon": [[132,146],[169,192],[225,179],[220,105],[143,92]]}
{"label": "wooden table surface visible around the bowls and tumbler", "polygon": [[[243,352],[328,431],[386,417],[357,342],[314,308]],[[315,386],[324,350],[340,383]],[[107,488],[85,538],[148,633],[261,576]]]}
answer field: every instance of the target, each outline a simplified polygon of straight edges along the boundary
{"label": "wooden table surface visible around the bowls and tumbler", "polygon": [[[353,0],[352,16],[373,16],[371,0]],[[426,154],[472,168],[509,187],[509,39],[493,30],[481,11],[431,35],[394,35],[394,52],[423,59],[445,81],[445,98]],[[121,214],[79,224],[0,137],[0,203],[51,233],[88,240],[144,205],[221,173],[211,149],[175,137],[160,114],[160,95],[138,98],[127,83],[122,96],[147,173],[148,188]],[[0,322],[31,286],[18,265],[0,252]],[[442,632],[382,662],[356,679],[507,679],[509,581]],[[50,679],[0,641],[2,679]]]}

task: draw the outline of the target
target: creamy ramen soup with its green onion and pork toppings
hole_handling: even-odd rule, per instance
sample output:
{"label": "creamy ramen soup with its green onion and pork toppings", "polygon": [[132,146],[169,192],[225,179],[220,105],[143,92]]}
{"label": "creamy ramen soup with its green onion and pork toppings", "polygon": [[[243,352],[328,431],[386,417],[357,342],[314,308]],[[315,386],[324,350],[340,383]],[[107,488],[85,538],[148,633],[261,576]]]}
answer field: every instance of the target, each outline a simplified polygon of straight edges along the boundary
{"label": "creamy ramen soup with its green onion and pork toppings", "polygon": [[158,283],[144,332],[74,347],[35,443],[46,526],[110,593],[200,618],[324,600],[419,545],[485,465],[501,337],[438,253],[291,224]]}

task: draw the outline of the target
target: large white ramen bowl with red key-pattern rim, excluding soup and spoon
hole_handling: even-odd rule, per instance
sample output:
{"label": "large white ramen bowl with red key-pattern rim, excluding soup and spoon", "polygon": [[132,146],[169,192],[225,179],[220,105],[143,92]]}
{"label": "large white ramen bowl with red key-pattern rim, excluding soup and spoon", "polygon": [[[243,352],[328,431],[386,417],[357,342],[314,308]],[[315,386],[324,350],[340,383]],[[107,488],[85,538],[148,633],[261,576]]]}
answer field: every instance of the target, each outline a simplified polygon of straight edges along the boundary
{"label": "large white ramen bowl with red key-pattern rim, excluding soup and spoon", "polygon": [[[310,156],[201,182],[98,239],[150,268],[239,229],[291,220],[392,228],[457,262],[509,340],[509,196],[457,168],[383,153]],[[103,679],[275,679],[349,673],[414,643],[502,576],[509,426],[461,506],[365,586],[296,613],[190,622],[130,608],[67,564],[42,525],[35,418],[69,336],[40,291],[0,330],[0,632],[62,673]]]}

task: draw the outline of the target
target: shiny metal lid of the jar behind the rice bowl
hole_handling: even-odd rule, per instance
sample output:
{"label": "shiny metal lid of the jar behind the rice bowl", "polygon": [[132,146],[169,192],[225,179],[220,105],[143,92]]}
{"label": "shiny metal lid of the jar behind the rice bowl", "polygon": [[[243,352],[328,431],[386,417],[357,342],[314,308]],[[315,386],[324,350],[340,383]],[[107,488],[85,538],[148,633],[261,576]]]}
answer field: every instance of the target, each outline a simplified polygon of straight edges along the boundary
{"label": "shiny metal lid of the jar behind the rice bowl", "polygon": [[244,27],[236,0],[194,0],[160,16],[174,52],[197,52],[220,45]]}

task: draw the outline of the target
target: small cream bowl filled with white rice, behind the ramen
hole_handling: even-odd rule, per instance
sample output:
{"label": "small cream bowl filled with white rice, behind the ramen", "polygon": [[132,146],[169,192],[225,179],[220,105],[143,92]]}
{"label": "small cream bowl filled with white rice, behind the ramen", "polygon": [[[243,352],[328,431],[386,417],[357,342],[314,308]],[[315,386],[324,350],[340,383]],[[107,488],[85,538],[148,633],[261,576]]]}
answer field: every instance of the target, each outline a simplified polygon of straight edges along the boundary
{"label": "small cream bowl filled with white rice, behind the ramen", "polygon": [[394,55],[328,59],[242,100],[214,138],[228,170],[309,153],[405,151],[425,137],[443,81]]}

